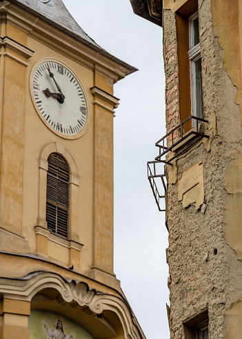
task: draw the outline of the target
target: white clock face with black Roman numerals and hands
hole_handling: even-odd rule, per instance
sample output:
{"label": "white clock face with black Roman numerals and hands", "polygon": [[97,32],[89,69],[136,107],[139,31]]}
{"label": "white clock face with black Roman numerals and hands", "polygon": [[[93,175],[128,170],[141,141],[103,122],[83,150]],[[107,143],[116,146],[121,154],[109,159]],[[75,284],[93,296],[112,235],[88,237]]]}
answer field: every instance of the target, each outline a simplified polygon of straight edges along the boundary
{"label": "white clock face with black Roman numerals and hands", "polygon": [[32,101],[41,120],[61,137],[76,139],[88,125],[88,105],[74,72],[60,61],[42,60],[30,75]]}

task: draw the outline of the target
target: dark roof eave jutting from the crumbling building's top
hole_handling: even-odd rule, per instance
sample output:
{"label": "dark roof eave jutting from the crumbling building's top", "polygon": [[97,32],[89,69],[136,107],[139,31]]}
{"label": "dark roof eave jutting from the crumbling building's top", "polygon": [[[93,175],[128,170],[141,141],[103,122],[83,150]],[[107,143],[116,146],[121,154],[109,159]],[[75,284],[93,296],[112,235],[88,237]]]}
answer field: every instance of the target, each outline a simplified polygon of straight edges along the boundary
{"label": "dark roof eave jutting from the crumbling building's top", "polygon": [[162,26],[163,0],[130,0],[134,14]]}

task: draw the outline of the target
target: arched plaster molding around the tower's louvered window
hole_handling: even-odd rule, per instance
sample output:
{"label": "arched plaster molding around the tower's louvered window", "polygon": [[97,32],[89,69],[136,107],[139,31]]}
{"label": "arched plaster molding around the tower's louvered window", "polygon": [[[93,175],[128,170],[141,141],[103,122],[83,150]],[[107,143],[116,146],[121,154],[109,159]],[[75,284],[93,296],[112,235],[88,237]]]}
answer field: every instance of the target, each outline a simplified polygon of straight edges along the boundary
{"label": "arched plaster molding around the tower's louvered window", "polygon": [[39,216],[38,225],[47,229],[46,222],[46,191],[47,191],[47,171],[48,157],[51,153],[61,155],[69,166],[70,171],[70,219],[69,219],[69,238],[74,241],[79,241],[77,232],[77,197],[79,188],[79,174],[77,165],[70,152],[57,142],[52,142],[46,145],[39,157]]}

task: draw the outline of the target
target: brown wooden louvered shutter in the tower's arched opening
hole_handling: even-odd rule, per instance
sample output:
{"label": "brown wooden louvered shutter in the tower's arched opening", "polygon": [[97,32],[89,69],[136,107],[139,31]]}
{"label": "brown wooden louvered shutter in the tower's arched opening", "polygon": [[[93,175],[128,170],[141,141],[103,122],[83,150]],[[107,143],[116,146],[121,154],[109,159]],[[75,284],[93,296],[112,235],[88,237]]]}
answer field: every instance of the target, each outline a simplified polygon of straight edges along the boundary
{"label": "brown wooden louvered shutter in the tower's arched opening", "polygon": [[57,153],[48,157],[46,221],[50,231],[68,237],[69,168]]}

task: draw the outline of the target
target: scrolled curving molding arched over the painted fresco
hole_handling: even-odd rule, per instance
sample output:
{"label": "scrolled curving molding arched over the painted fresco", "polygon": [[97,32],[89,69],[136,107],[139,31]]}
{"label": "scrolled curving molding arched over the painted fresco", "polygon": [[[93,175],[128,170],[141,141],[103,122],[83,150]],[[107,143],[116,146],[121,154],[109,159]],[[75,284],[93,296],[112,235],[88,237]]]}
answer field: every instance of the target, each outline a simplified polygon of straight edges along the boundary
{"label": "scrolled curving molding arched over the painted fresco", "polygon": [[58,291],[59,297],[56,300],[62,305],[77,302],[80,307],[88,307],[93,315],[110,311],[118,316],[124,338],[145,339],[128,302],[122,296],[97,292],[90,289],[85,282],[64,279],[56,273],[46,271],[34,272],[18,279],[0,278],[0,291],[4,298],[31,302],[44,289]]}

